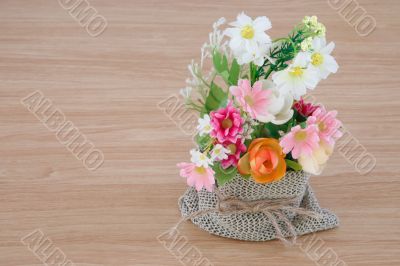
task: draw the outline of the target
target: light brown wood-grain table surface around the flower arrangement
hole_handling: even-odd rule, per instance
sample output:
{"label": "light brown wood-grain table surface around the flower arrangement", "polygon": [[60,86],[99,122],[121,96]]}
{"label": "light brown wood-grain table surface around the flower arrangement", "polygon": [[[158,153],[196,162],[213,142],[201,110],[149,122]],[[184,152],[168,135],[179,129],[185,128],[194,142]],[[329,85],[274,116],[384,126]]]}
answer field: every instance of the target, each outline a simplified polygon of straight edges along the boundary
{"label": "light brown wood-grain table surface around the flower arrangement", "polygon": [[[242,10],[268,16],[273,37],[304,15],[327,26],[340,69],[313,95],[339,111],[376,166],[360,174],[335,152],[311,184],[341,226],[313,237],[338,265],[400,265],[399,1],[353,0],[376,20],[360,36],[333,0],[88,0],[107,21],[97,37],[67,2],[0,2],[0,265],[42,265],[55,248],[75,265],[179,265],[157,237],[179,219],[186,183],[175,165],[192,142],[157,105],[184,87],[211,24]],[[24,105],[35,91],[104,154],[99,168],[87,169]],[[322,249],[224,239],[189,222],[179,234],[213,265],[334,264],[318,258]],[[35,251],[35,236],[50,248]]]}

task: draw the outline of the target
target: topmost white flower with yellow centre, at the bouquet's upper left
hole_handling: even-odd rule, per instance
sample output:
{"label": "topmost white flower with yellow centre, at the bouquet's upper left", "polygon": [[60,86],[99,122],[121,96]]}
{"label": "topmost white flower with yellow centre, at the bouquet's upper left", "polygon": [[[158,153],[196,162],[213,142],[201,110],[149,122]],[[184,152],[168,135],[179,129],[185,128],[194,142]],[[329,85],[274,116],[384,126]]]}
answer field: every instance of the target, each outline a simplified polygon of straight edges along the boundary
{"label": "topmost white flower with yellow centre, at the bouquet's upper left", "polygon": [[270,20],[263,16],[253,21],[242,12],[229,25],[233,28],[226,29],[224,34],[231,38],[229,47],[238,63],[242,65],[253,61],[256,65],[262,65],[271,45],[271,38],[265,33],[271,28]]}

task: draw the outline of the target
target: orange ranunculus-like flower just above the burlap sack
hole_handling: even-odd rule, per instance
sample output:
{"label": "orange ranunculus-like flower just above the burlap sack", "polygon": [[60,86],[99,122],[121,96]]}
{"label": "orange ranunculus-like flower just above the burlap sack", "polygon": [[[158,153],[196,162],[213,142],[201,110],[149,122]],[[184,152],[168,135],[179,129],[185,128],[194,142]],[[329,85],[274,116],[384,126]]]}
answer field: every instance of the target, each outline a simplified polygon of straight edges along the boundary
{"label": "orange ranunculus-like flower just above the burlap sack", "polygon": [[240,158],[241,175],[251,175],[257,183],[280,180],[286,173],[285,154],[278,140],[259,138],[251,142],[248,152]]}

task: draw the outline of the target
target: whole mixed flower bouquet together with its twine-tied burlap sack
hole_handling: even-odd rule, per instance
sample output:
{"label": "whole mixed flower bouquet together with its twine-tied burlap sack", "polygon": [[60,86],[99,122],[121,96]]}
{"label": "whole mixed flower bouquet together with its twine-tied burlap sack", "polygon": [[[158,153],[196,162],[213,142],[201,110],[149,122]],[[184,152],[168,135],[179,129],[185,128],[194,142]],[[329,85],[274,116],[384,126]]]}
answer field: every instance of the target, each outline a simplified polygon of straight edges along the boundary
{"label": "whole mixed flower bouquet together with its twine-tied burlap sack", "polygon": [[271,40],[265,16],[241,13],[221,30],[224,23],[214,23],[181,91],[200,116],[191,162],[178,164],[190,186],[179,199],[181,222],[252,241],[294,241],[336,227],[308,179],[322,172],[341,123],[336,111],[303,98],[338,69],[325,26],[307,16]]}

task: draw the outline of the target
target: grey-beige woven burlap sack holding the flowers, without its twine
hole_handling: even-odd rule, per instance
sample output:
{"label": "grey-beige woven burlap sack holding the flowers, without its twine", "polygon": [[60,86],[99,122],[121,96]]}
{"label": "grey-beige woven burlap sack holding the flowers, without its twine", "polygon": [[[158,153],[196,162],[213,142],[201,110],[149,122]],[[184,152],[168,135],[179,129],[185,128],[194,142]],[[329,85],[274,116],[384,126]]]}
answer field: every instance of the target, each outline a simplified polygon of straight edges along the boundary
{"label": "grey-beige woven burlap sack holding the flowers, without its twine", "polygon": [[[298,200],[293,202],[292,207],[304,208],[317,215],[299,215],[282,209],[281,214],[291,222],[296,235],[338,226],[339,221],[336,215],[319,206],[308,179],[309,175],[302,171],[288,171],[286,176],[278,182],[257,184],[252,179],[245,179],[237,175],[218,190],[224,197],[234,197],[242,201],[297,198]],[[194,188],[189,188],[179,199],[179,208],[182,216],[188,217],[202,210],[215,209],[217,203],[218,197],[215,192],[208,192],[205,189],[196,191]],[[279,216],[275,217],[283,235],[292,237],[293,233],[288,230],[287,223],[280,221]],[[233,239],[266,241],[277,238],[276,229],[271,220],[262,212],[224,214],[215,211],[196,216],[191,221],[211,234]]]}

